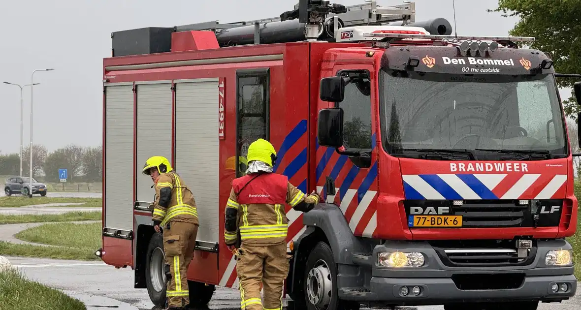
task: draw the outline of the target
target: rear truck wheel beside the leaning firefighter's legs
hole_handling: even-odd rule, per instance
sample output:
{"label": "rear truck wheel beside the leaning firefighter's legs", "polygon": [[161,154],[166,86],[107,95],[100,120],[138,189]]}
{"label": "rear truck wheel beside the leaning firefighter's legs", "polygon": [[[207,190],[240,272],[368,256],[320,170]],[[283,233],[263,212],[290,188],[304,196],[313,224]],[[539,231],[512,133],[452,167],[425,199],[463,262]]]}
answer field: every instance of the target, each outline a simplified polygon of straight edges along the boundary
{"label": "rear truck wheel beside the leaning firefighter's legs", "polygon": [[145,283],[149,299],[154,305],[166,306],[167,278],[163,272],[164,265],[163,237],[154,233],[149,240],[145,257]]}

